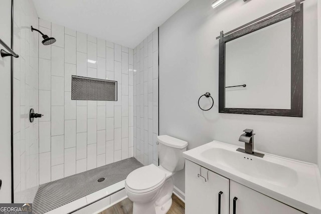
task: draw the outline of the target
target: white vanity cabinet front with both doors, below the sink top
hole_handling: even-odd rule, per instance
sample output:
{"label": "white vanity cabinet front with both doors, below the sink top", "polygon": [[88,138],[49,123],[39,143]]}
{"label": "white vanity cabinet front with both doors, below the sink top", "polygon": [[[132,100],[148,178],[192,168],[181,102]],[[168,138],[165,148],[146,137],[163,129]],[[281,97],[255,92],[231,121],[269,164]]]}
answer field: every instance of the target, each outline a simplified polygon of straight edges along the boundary
{"label": "white vanity cabinet front with both doors, below the sink top", "polygon": [[304,213],[190,160],[185,163],[186,214]]}

